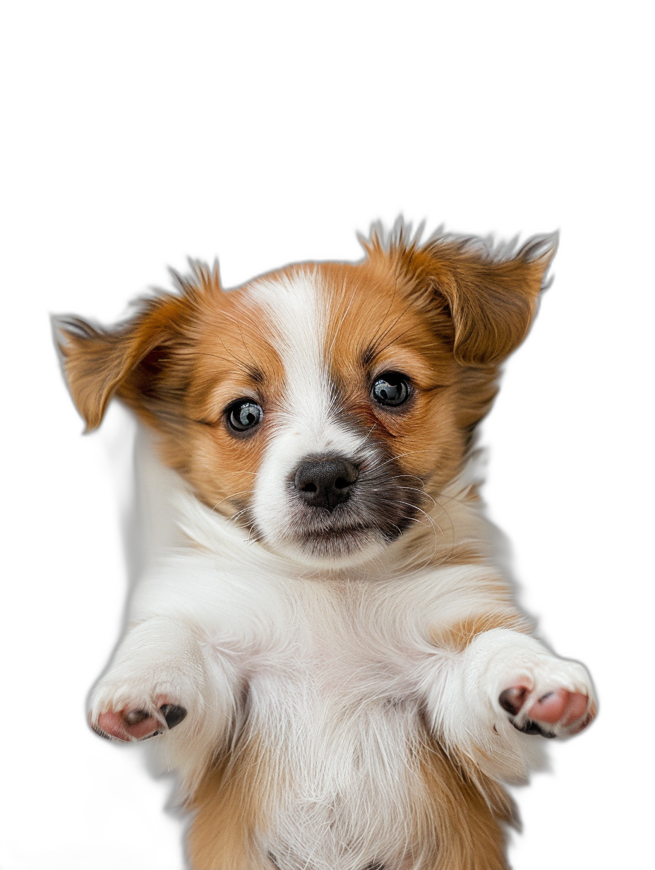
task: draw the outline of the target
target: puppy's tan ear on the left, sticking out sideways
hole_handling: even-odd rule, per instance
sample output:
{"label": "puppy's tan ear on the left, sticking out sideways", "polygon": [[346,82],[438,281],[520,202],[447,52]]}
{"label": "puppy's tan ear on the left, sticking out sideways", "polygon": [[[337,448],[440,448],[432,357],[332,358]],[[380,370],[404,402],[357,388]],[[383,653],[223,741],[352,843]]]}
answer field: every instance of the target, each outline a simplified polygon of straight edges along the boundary
{"label": "puppy's tan ear on the left, sticking out sideways", "polygon": [[172,302],[150,300],[135,317],[110,329],[72,316],[52,318],[63,376],[84,420],[84,434],[101,425],[117,394],[129,399],[143,380],[138,371],[161,355],[170,341]]}

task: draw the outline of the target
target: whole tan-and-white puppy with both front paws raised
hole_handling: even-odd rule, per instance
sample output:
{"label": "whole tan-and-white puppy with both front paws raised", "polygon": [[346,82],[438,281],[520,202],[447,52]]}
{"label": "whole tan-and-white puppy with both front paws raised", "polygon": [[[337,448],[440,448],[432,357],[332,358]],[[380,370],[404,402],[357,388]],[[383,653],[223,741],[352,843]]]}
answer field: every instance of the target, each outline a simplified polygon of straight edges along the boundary
{"label": "whole tan-and-white puppy with both front paws raised", "polygon": [[192,870],[501,870],[506,786],[597,712],[478,491],[557,239],[362,244],[230,291],[191,264],[111,329],[57,318],[86,431],[112,400],[139,424],[136,583],[89,723],[175,773]]}

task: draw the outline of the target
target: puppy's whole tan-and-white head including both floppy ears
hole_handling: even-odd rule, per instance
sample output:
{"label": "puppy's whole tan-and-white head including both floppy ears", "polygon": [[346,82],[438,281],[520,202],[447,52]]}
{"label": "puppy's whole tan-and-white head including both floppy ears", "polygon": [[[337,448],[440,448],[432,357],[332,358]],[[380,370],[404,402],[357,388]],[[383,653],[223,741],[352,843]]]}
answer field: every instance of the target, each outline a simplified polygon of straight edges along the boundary
{"label": "puppy's whole tan-and-white head including both floppy ears", "polygon": [[231,291],[193,264],[109,330],[57,318],[87,431],[117,398],[205,505],[272,551],[330,568],[377,557],[461,469],[556,239],[420,244],[398,224],[363,244],[359,263]]}

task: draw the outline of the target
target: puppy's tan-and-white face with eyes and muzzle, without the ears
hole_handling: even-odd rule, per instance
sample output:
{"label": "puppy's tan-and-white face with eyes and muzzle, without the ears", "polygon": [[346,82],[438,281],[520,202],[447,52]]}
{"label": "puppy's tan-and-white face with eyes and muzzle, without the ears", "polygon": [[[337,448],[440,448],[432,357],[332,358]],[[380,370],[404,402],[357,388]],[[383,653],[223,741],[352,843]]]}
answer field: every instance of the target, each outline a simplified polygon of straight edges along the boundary
{"label": "puppy's tan-and-white face with eyes and muzzle, without the ears", "polygon": [[211,423],[194,451],[198,492],[297,561],[370,558],[462,458],[447,319],[438,334],[391,275],[357,266],[287,270],[224,296],[198,360],[213,385],[198,396]]}

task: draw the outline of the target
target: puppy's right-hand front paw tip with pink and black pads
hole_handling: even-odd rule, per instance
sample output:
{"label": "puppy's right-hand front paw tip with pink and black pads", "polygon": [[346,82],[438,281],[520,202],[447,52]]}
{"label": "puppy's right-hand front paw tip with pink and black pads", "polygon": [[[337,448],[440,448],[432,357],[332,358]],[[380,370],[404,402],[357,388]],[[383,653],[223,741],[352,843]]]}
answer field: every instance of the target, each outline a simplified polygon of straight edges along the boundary
{"label": "puppy's right-hand front paw tip with pink and black pads", "polygon": [[518,731],[568,738],[592,724],[598,705],[584,666],[540,656],[523,671],[498,695],[498,704]]}

